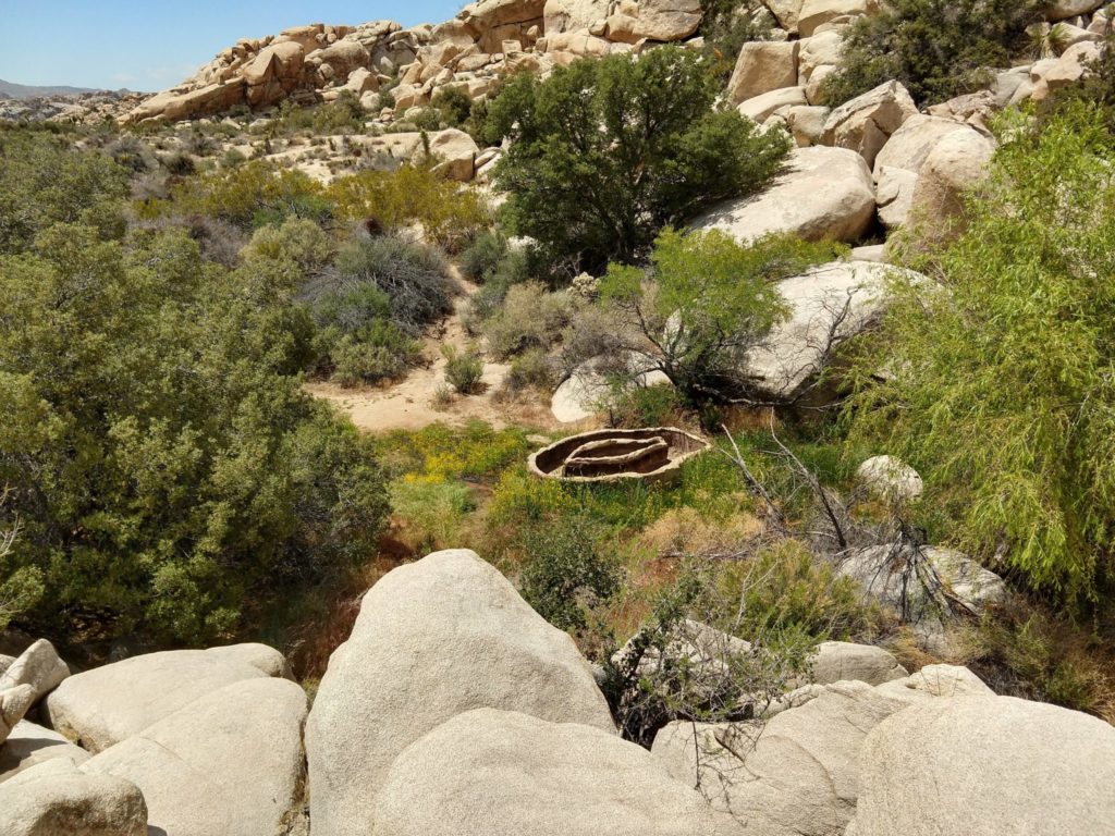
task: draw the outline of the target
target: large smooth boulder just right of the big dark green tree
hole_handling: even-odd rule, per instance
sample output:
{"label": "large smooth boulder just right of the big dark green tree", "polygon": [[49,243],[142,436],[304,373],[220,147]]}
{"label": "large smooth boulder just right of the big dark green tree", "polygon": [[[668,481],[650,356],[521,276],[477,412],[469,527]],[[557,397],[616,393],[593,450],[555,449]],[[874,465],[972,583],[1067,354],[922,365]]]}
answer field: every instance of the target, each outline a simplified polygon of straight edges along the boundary
{"label": "large smooth boulder just right of the big dark green tree", "polygon": [[856,241],[875,214],[875,189],[863,157],[846,148],[797,148],[784,174],[762,194],[726,201],[694,220],[740,243],[773,232],[808,241]]}

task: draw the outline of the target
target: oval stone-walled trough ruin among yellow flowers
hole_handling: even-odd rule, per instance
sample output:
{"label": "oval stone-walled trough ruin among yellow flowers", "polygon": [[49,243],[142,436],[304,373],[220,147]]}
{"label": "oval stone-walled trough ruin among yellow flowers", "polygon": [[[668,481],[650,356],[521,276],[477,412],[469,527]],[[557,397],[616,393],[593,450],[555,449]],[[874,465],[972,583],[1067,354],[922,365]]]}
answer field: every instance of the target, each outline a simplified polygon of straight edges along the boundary
{"label": "oval stone-walled trough ruin among yellow flowers", "polygon": [[675,427],[598,429],[563,438],[531,456],[531,473],[563,482],[657,482],[711,445]]}

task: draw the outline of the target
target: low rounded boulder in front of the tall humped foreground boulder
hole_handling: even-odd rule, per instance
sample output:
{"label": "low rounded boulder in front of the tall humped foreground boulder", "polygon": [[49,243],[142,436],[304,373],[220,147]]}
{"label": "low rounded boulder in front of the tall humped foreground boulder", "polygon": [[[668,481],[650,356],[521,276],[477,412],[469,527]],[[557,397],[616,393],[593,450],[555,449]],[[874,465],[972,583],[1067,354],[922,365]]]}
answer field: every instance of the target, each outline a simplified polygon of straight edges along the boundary
{"label": "low rounded boulder in front of the tall humped foreground boulder", "polygon": [[479,709],[411,743],[376,836],[714,836],[705,799],[646,749],[588,726]]}

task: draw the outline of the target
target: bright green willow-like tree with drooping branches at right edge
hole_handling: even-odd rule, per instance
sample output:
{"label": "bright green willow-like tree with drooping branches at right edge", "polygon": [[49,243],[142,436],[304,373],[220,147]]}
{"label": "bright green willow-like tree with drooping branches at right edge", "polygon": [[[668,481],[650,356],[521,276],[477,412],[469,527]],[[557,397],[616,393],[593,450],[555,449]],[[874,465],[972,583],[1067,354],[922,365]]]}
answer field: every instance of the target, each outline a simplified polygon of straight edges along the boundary
{"label": "bright green willow-like tree with drooping branches at right edge", "polygon": [[1073,599],[1115,545],[1115,138],[1085,106],[1037,135],[1018,119],[967,232],[918,264],[937,281],[895,279],[849,416],[959,545]]}

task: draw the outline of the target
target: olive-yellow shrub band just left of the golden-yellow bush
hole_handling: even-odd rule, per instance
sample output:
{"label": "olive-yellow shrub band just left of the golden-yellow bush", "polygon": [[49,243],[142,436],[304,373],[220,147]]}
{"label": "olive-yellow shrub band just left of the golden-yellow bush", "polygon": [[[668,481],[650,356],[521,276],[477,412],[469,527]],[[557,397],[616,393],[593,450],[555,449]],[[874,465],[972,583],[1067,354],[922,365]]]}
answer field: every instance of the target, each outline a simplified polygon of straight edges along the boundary
{"label": "olive-yellow shrub band just left of the golden-yellow bush", "polygon": [[201,214],[249,230],[287,217],[321,222],[332,216],[322,186],[302,172],[277,171],[253,159],[235,168],[197,175],[171,188],[171,200],[155,202],[148,214]]}

